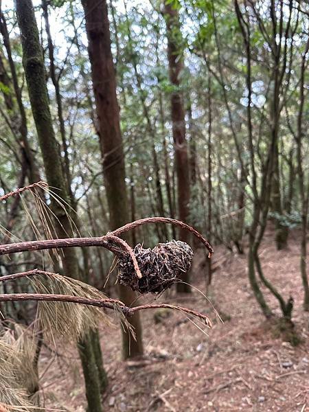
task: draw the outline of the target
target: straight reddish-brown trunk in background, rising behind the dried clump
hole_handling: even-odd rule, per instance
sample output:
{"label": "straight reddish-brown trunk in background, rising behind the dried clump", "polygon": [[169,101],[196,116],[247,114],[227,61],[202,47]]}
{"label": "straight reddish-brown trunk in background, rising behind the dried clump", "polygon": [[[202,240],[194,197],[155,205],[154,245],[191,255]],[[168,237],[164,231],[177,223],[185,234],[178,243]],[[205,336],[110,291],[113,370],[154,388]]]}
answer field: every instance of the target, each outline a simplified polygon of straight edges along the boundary
{"label": "straight reddish-brown trunk in background, rising behind the dried clump", "polygon": [[[166,33],[168,37],[168,65],[170,69],[170,82],[174,85],[171,95],[172,111],[172,133],[174,139],[174,150],[176,160],[177,196],[179,220],[187,222],[189,220],[190,207],[190,174],[189,157],[187,152],[187,141],[185,139],[185,109],[183,106],[183,96],[179,91],[180,75],[183,70],[182,52],[179,51],[182,45],[180,31],[179,14],[172,8],[170,1],[165,1],[164,15],[166,21]],[[179,40],[180,39],[180,40]],[[181,229],[179,238],[183,242],[190,242],[190,234]],[[189,276],[183,275],[184,283],[177,284],[179,292],[190,293]]]}

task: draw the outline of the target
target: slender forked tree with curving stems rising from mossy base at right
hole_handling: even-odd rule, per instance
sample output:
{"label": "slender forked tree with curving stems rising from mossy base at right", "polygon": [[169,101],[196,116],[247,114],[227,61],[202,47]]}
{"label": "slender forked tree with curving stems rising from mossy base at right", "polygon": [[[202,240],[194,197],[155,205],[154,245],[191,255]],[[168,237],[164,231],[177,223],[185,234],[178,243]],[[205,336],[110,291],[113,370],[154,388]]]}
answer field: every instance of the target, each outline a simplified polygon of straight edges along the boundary
{"label": "slender forked tree with curving stems rising from mossy base at right", "polygon": [[[260,247],[260,243],[264,236],[264,232],[266,229],[268,211],[271,207],[271,195],[272,195],[272,183],[273,183],[273,175],[276,170],[276,161],[277,161],[277,148],[278,148],[278,128],[279,128],[279,83],[280,78],[279,76],[279,52],[277,50],[277,45],[274,39],[274,55],[275,61],[277,62],[274,70],[273,70],[273,78],[274,78],[274,90],[273,90],[273,101],[271,104],[271,139],[268,144],[267,149],[267,157],[266,161],[262,168],[261,174],[261,181],[260,181],[260,190],[258,190],[258,182],[257,182],[257,174],[255,171],[255,159],[254,159],[254,146],[253,146],[253,126],[252,126],[252,117],[251,117],[251,97],[252,97],[252,82],[251,82],[251,26],[250,26],[250,19],[248,10],[246,11],[247,19],[244,19],[244,15],[240,10],[240,5],[238,1],[235,0],[234,2],[236,15],[238,18],[238,23],[240,25],[240,30],[242,32],[242,36],[244,39],[244,46],[246,48],[246,57],[247,57],[247,88],[248,88],[248,104],[247,104],[247,128],[248,128],[248,135],[249,135],[249,148],[250,148],[250,165],[251,165],[251,174],[252,174],[252,192],[253,192],[253,218],[251,222],[251,227],[249,231],[249,251],[248,251],[248,271],[249,271],[249,282],[251,284],[251,288],[255,295],[255,298],[260,305],[262,312],[266,318],[272,316],[271,308],[269,308],[268,304],[264,299],[264,295],[260,286],[258,285],[256,275],[255,275],[255,267],[258,271],[258,275],[260,280],[270,290],[273,296],[279,302],[280,308],[282,310],[282,314],[285,317],[287,313],[291,313],[292,308],[290,305],[286,305],[282,295],[279,294],[277,289],[271,284],[271,282],[264,277],[264,273],[262,271],[262,266],[260,264],[260,259],[258,256],[258,250]],[[254,5],[253,5],[254,7]],[[273,10],[271,10],[271,14]],[[275,17],[274,17],[275,19]],[[272,21],[274,21],[274,19]],[[246,21],[247,20],[247,21]],[[276,27],[276,24],[274,25]],[[275,29],[274,29],[275,30]],[[282,72],[284,73],[284,71]],[[282,80],[282,78],[281,78]],[[243,172],[246,172],[246,168],[242,163],[242,168],[244,169]],[[278,174],[279,178],[279,174]],[[279,181],[278,181],[279,182]],[[278,191],[277,191],[278,192]],[[287,310],[288,308],[288,310]]]}

